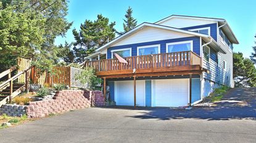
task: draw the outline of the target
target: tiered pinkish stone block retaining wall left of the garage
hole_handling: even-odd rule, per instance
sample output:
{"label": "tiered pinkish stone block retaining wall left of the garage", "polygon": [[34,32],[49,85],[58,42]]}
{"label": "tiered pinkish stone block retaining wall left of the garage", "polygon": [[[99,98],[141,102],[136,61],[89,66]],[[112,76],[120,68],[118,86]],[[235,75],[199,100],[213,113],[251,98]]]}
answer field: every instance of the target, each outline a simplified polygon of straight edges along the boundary
{"label": "tiered pinkish stone block retaining wall left of the garage", "polygon": [[53,99],[30,102],[29,106],[4,105],[0,110],[0,115],[4,113],[10,116],[27,114],[30,118],[39,118],[68,110],[104,105],[102,91],[63,90],[58,91]]}

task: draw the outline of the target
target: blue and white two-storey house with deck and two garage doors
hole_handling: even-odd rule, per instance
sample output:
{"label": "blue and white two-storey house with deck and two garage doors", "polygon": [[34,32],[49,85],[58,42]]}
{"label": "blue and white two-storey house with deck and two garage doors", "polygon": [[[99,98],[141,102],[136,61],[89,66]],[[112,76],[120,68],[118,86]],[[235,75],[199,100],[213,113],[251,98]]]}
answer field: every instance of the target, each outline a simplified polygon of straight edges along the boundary
{"label": "blue and white two-storey house with deck and two garage doors", "polygon": [[233,44],[225,19],[171,15],[97,48],[85,66],[96,69],[118,106],[193,105],[220,85],[234,86]]}

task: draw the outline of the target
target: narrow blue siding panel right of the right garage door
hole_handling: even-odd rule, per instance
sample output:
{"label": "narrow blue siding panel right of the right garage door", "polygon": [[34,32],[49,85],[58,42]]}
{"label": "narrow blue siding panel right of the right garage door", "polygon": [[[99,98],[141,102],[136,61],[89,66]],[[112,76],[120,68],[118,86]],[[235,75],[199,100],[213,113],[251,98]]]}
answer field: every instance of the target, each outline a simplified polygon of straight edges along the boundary
{"label": "narrow blue siding panel right of the right garage door", "polygon": [[200,79],[192,79],[192,102],[199,101],[200,95]]}

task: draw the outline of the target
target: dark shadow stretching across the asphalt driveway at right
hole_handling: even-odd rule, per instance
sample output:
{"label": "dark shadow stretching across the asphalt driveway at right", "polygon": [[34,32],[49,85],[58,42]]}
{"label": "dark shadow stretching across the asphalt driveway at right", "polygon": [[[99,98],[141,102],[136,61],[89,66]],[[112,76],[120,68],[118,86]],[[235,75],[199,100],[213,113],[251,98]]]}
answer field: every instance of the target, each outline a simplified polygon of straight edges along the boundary
{"label": "dark shadow stretching across the asphalt driveway at right", "polygon": [[183,119],[196,118],[204,120],[233,120],[246,119],[256,120],[256,88],[233,88],[223,97],[225,100],[246,101],[246,106],[239,106],[236,103],[217,103],[213,107],[192,108],[191,110],[173,109],[168,107],[125,107],[114,106],[104,107],[112,109],[141,110],[139,115],[127,116],[141,119]]}

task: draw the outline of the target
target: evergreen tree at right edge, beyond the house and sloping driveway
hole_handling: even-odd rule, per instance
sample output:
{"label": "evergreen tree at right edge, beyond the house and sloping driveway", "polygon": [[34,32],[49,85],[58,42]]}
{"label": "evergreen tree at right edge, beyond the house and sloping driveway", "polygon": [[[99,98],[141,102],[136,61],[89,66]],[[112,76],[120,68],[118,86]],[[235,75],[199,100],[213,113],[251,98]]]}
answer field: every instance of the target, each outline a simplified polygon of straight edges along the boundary
{"label": "evergreen tree at right edge, beyond the house and sloping driveway", "polygon": [[233,54],[233,77],[235,87],[255,87],[256,69],[249,58],[242,57],[242,53]]}

